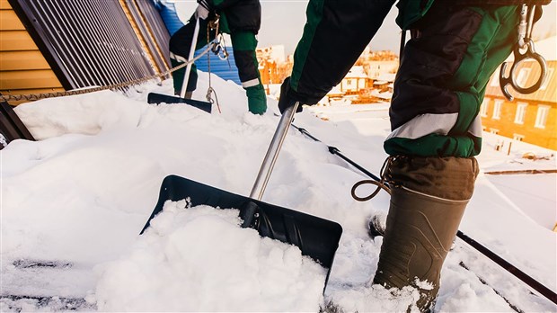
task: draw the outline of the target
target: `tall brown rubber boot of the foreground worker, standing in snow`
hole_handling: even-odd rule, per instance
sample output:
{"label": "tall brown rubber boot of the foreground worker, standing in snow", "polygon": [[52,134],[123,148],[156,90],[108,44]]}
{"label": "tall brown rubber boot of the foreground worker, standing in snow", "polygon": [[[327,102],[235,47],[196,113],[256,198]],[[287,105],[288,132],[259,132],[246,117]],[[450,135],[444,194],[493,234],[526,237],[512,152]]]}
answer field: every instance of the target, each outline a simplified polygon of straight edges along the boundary
{"label": "tall brown rubber boot of the foreground worker, standing in snow", "polygon": [[473,157],[394,158],[387,173],[391,205],[374,283],[388,289],[415,287],[420,312],[433,309],[441,267],[477,174]]}

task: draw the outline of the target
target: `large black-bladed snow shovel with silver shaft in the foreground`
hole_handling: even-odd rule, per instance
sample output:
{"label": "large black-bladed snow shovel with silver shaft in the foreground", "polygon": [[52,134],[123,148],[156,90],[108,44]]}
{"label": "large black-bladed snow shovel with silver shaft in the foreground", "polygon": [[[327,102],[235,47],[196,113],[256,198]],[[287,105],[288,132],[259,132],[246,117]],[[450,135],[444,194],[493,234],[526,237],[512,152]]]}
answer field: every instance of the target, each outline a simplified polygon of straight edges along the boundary
{"label": "large black-bladed snow shovel with silver shaft in the foreground", "polygon": [[303,255],[313,258],[327,268],[326,286],[342,234],[340,225],[331,220],[261,201],[272,168],[279,156],[279,150],[286,138],[288,126],[294,119],[297,106],[298,103],[288,108],[280,118],[279,126],[270,142],[267,155],[263,159],[250,197],[225,192],[180,176],[167,176],[161,186],[155,210],[147,220],[146,226],[141,230],[141,234],[149,227],[151,219],[163,210],[165,201],[180,201],[190,198],[191,206],[205,204],[221,209],[239,209],[239,215],[243,219],[243,228],[255,228],[262,237],[270,237],[295,245],[300,248]]}

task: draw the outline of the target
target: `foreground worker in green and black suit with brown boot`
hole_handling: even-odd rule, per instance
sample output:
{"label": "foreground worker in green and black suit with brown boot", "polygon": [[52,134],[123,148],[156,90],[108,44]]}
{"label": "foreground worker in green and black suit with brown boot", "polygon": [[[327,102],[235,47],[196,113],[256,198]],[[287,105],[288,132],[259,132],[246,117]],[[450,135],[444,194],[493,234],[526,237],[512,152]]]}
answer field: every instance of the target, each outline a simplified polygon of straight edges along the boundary
{"label": "foreground worker in green and black suit with brown boot", "polygon": [[[395,0],[310,0],[279,110],[313,105],[338,85]],[[485,87],[517,44],[519,4],[549,0],[401,0],[411,31],[389,111],[384,178],[392,192],[372,283],[420,291],[433,309],[446,255],[473,195]],[[411,309],[411,308],[409,308]]]}

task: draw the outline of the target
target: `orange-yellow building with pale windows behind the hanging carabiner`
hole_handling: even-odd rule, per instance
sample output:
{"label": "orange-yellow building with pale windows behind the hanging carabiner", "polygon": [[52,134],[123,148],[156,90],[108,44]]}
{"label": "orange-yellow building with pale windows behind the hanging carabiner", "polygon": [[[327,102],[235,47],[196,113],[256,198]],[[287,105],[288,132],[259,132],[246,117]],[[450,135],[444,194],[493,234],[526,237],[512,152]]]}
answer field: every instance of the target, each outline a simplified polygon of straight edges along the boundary
{"label": "orange-yellow building with pale windows behind the hanging carabiner", "polygon": [[[536,146],[557,150],[557,58],[555,37],[535,43],[547,61],[547,76],[543,85],[533,94],[518,94],[510,86],[513,101],[508,101],[500,90],[500,71],[497,70],[486,87],[480,114],[483,130],[524,141]],[[508,67],[512,58],[507,60]],[[540,76],[540,66],[528,59],[517,65],[517,84],[534,85]],[[508,76],[508,74],[506,74]]]}

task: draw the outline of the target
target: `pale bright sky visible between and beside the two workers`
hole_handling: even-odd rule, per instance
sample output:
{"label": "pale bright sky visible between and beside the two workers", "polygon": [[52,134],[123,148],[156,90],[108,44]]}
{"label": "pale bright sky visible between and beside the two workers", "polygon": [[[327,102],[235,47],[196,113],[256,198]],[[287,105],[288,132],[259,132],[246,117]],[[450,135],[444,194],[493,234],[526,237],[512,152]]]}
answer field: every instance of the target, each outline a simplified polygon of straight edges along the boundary
{"label": "pale bright sky visible between and beside the two workers", "polygon": [[[176,0],[176,7],[182,20],[193,13],[196,2]],[[305,24],[305,0],[261,0],[261,31],[259,47],[284,45],[287,54],[292,54],[302,36]],[[401,31],[394,22],[398,13],[395,6],[385,18],[385,22],[371,41],[374,50],[389,49],[398,54]],[[547,37],[557,33],[557,2],[544,6],[542,19],[535,24],[534,37]]]}

